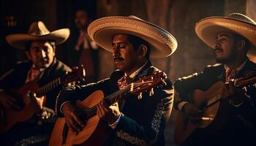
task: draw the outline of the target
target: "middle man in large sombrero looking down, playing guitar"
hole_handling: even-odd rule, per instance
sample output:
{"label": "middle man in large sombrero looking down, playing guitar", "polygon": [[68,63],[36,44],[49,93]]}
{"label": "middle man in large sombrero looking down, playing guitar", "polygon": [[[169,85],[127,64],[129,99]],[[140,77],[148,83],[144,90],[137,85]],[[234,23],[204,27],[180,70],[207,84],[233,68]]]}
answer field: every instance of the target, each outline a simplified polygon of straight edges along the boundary
{"label": "middle man in large sombrero looking down, playing guitar", "polygon": [[[76,100],[83,100],[97,90],[102,90],[106,97],[141,77],[160,72],[151,65],[149,57],[167,57],[177,47],[170,33],[134,16],[94,20],[88,33],[97,45],[113,54],[113,61],[122,74],[116,71],[106,80],[61,91],[57,115],[64,115],[67,126],[78,136],[86,120],[79,120],[74,106]],[[97,116],[111,128],[105,145],[165,145],[164,130],[172,109],[173,85],[165,77],[162,80],[165,84],[154,88],[152,96],[149,91],[142,91],[142,96],[131,95],[116,104],[108,105],[105,101],[97,104]],[[99,137],[94,145],[101,140]]]}

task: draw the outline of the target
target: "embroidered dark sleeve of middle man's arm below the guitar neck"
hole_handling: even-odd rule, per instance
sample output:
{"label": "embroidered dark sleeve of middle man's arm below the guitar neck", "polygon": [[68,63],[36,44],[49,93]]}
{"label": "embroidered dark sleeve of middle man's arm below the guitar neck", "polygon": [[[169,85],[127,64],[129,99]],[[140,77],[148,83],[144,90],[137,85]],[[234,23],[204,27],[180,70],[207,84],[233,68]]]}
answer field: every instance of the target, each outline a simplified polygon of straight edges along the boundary
{"label": "embroidered dark sleeve of middle man's arm below the guitar neck", "polygon": [[157,141],[160,134],[163,137],[173,106],[173,85],[170,80],[165,82],[167,85],[156,90],[154,96],[143,96],[145,103],[140,108],[143,112],[138,111],[140,114],[137,119],[129,118],[129,115],[124,113],[115,128],[116,137],[132,145],[151,145]]}

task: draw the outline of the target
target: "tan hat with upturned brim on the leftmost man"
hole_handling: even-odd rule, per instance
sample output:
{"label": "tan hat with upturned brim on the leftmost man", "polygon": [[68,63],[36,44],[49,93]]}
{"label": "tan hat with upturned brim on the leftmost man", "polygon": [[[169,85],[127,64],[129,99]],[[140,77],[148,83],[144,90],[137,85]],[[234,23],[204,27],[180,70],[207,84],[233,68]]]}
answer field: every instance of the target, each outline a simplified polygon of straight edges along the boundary
{"label": "tan hat with upturned brim on the leftmost man", "polygon": [[59,45],[68,39],[69,33],[69,28],[50,32],[42,21],[37,21],[31,24],[28,34],[10,34],[6,39],[12,47],[25,50],[25,44],[29,41],[50,40]]}

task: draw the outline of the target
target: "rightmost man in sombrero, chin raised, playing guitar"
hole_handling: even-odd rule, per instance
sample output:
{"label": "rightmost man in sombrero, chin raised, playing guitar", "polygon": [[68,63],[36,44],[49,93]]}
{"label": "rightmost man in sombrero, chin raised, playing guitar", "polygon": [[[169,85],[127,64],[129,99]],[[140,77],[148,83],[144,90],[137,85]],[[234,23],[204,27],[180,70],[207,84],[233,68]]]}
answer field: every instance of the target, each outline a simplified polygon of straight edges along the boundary
{"label": "rightmost man in sombrero, chin raised, playing guitar", "polygon": [[[183,140],[175,135],[176,142],[184,145],[255,145],[256,89],[253,82],[248,84],[256,72],[256,64],[251,61],[255,58],[255,21],[240,13],[232,13],[227,17],[210,17],[200,20],[195,25],[195,32],[206,45],[214,49],[219,64],[207,66],[203,72],[176,80],[174,105],[192,123],[213,120],[212,115],[203,118],[201,115],[206,114],[205,111],[211,109],[211,106],[219,104],[219,101],[220,105],[215,110],[217,115],[210,125],[188,130],[185,133],[189,133],[189,137],[186,136]],[[232,80],[241,77],[244,78]],[[241,82],[244,80],[246,82]],[[226,83],[219,84],[219,81]],[[241,82],[240,88],[238,82]],[[241,89],[244,86],[246,90]],[[212,92],[203,96],[208,100],[202,102],[202,107],[195,105],[198,94],[193,92],[196,89],[200,93]],[[183,130],[177,131],[177,135],[181,131]]]}

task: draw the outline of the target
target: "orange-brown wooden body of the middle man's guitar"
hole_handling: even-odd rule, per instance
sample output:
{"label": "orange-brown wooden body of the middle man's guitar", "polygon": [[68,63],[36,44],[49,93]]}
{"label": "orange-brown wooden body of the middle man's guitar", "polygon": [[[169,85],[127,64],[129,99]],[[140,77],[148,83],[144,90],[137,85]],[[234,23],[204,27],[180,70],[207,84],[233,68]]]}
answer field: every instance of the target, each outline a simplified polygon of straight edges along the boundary
{"label": "orange-brown wooden body of the middle man's guitar", "polygon": [[[77,101],[76,105],[79,109],[89,109],[99,104],[103,98],[104,93],[102,91],[95,91],[85,100]],[[67,135],[65,136],[65,118],[58,118],[53,128],[49,145],[103,145],[103,142],[108,139],[104,132],[108,130],[108,127],[106,127],[108,125],[99,120],[97,115],[84,121],[84,123],[85,126],[78,135],[73,134],[71,130],[67,129]]]}

